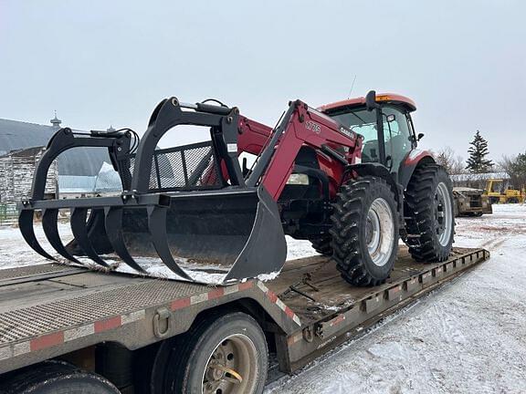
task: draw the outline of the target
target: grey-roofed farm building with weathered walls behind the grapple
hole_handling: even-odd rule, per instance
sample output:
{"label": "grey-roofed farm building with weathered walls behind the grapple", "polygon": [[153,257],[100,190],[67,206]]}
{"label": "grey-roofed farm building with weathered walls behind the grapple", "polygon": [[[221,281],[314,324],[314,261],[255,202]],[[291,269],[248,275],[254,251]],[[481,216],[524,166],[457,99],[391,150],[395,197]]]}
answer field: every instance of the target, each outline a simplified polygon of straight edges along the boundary
{"label": "grey-roofed farm building with weathered walls behind the grapple", "polygon": [[[60,129],[61,120],[55,116],[51,126],[0,119],[0,202],[14,203],[31,189],[33,171],[47,141]],[[108,151],[102,148],[76,148],[62,153],[53,163],[47,177],[49,195],[92,195],[99,189],[119,190],[120,184],[108,174],[104,188],[97,189],[100,171],[108,171]],[[106,164],[108,166],[108,164]],[[100,184],[101,181],[99,181]],[[15,186],[16,185],[16,186]]]}

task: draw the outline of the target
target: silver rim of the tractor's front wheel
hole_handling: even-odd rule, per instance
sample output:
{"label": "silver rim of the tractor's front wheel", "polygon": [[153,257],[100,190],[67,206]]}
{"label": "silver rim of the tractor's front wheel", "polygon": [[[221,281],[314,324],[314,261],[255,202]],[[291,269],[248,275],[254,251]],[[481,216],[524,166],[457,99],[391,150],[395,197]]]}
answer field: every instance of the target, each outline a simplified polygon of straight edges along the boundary
{"label": "silver rim of the tractor's front wheel", "polygon": [[391,207],[383,198],[374,200],[369,208],[365,240],[373,264],[387,264],[395,243],[395,224]]}

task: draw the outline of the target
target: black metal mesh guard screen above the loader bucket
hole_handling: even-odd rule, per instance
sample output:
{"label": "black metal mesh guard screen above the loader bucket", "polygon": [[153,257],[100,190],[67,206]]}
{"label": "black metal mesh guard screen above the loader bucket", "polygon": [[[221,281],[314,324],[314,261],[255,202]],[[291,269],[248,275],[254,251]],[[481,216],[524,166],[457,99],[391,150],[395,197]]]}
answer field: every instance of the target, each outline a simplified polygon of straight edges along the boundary
{"label": "black metal mesh guard screen above the loader bucket", "polygon": [[[124,171],[125,185],[132,182],[135,156],[131,155],[130,171]],[[150,192],[219,189],[224,181],[211,141],[198,142],[153,153]]]}

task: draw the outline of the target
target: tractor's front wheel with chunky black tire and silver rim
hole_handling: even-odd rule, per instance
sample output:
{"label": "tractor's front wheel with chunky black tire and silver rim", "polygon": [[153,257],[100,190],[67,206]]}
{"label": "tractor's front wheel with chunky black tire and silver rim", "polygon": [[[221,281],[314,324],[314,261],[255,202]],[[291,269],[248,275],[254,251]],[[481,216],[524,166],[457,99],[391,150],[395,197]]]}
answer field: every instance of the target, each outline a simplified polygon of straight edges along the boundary
{"label": "tractor's front wheel with chunky black tire and silver rim", "polygon": [[379,285],[389,277],[398,251],[395,194],[380,178],[342,185],[331,216],[332,258],[351,285]]}

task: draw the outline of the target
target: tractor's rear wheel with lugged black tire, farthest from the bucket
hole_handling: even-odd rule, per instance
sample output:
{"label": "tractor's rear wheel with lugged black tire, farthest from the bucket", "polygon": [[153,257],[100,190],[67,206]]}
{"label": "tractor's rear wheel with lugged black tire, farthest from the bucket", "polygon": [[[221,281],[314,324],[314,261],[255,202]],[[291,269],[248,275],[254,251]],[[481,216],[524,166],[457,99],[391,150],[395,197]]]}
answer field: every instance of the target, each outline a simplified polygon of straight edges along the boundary
{"label": "tractor's rear wheel with lugged black tire, farthest from the bucket", "polygon": [[416,168],[405,190],[405,244],[418,262],[447,260],[455,219],[453,192],[446,170],[437,164]]}

